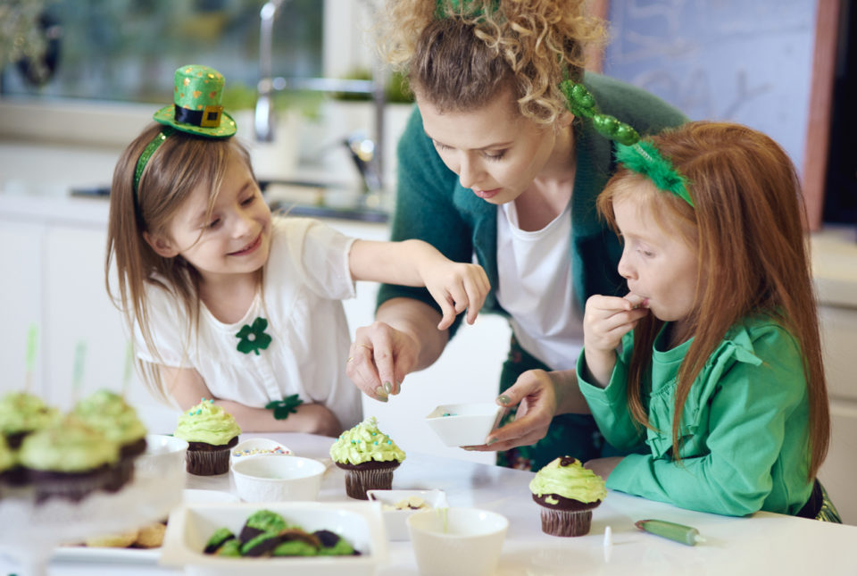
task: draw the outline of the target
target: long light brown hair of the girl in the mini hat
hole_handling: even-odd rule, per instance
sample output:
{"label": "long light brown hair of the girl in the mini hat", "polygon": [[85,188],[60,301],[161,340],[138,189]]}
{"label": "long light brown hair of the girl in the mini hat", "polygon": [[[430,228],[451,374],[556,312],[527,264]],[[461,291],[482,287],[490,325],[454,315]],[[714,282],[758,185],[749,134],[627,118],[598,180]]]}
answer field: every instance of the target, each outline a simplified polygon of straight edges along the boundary
{"label": "long light brown hair of the girl in the mini hat", "polygon": [[[143,233],[168,236],[172,217],[197,187],[204,186],[211,191],[211,210],[232,157],[239,158],[253,174],[250,155],[236,138],[197,138],[175,131],[146,163],[135,194],[133,179],[137,159],[161,129],[160,124],[154,123],[144,129],[116,163],[110,188],[110,221],[104,260],[107,294],[124,313],[131,333],[135,325],[139,328],[155,357],[158,355],[148,327],[146,289],[159,286],[170,290],[187,312],[188,327],[195,327],[199,319],[199,275],[180,255],[174,258],[158,255]],[[117,272],[116,286],[111,283],[113,265]],[[191,334],[186,334],[186,344],[190,338]],[[146,365],[141,368],[146,384],[163,398],[157,371]]]}

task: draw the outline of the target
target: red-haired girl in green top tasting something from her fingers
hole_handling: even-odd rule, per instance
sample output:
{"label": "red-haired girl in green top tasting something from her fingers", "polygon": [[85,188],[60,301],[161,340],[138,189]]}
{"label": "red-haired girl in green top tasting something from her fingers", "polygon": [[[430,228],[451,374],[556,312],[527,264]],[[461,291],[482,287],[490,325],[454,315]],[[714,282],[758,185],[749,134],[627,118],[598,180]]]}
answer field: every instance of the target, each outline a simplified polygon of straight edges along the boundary
{"label": "red-haired girl in green top tasting something from her fingers", "polygon": [[[620,144],[616,159],[597,207],[622,239],[628,292],[587,300],[576,384],[507,396],[590,411],[613,445],[643,444],[587,462],[607,488],[840,522],[816,480],[830,416],[794,165],[761,132],[717,122]],[[497,443],[533,424],[495,430]]]}

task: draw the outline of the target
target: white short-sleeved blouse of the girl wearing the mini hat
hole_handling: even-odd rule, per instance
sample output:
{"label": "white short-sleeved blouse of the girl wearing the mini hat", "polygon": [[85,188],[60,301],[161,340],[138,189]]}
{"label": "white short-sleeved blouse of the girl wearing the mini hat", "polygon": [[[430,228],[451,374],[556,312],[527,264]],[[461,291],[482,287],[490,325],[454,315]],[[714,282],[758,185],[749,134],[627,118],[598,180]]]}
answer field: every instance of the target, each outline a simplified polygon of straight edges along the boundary
{"label": "white short-sleeved blouse of the girl wearing the mini hat", "polygon": [[[233,324],[218,321],[201,304],[196,338],[187,343],[183,305],[165,289],[146,290],[150,329],[160,358],[138,328],[137,356],[149,363],[193,368],[214,397],[253,407],[297,394],[326,405],[348,429],[362,419],[360,391],[345,375],[351,338],[341,300],[354,297],[348,238],[320,221],[274,217],[258,294]],[[258,354],[237,349],[237,333],[255,319],[268,321],[270,345]]]}

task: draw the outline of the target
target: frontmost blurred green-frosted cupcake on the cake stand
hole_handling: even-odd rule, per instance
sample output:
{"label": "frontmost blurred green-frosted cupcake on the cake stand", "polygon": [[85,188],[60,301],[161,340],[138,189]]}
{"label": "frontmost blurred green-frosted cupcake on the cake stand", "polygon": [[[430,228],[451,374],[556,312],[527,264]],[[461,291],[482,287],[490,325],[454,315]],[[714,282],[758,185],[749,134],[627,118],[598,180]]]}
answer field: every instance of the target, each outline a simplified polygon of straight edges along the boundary
{"label": "frontmost blurred green-frosted cupcake on the cake stand", "polygon": [[24,438],[18,459],[38,502],[50,497],[77,502],[107,486],[119,445],[69,415]]}

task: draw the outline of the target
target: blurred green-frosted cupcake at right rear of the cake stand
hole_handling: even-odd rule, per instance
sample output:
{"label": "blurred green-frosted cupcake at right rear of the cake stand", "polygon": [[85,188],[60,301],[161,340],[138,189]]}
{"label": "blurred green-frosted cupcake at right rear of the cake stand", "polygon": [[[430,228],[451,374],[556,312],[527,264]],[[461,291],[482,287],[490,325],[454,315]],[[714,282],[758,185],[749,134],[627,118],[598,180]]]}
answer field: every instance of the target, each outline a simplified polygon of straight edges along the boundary
{"label": "blurred green-frosted cupcake at right rear of the cake stand", "polygon": [[140,422],[137,411],[121,395],[98,390],[80,400],[74,414],[119,445],[120,463],[111,488],[121,488],[134,475],[134,459],[146,452],[146,426]]}

